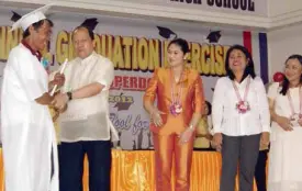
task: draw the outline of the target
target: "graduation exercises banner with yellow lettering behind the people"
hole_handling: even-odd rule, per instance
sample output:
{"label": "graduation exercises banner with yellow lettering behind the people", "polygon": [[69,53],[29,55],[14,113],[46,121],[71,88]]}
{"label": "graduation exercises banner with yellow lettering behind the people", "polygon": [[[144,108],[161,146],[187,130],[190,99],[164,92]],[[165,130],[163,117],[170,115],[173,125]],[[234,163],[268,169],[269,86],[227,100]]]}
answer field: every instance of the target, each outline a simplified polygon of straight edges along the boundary
{"label": "graduation exercises banner with yellow lettering behind the people", "polygon": [[[9,52],[22,38],[21,30],[10,32],[10,21],[15,11],[0,11],[0,74]],[[148,130],[149,119],[143,109],[143,94],[147,81],[157,67],[167,66],[167,45],[175,37],[190,43],[191,67],[198,69],[203,80],[205,98],[211,102],[213,88],[219,77],[225,74],[224,58],[233,44],[245,45],[253,53],[256,71],[268,79],[267,41],[265,33],[243,32],[217,27],[203,27],[188,22],[167,22],[126,19],[105,15],[54,13],[53,38],[44,55],[55,70],[64,60],[74,58],[70,32],[86,19],[96,18],[96,52],[109,57],[115,68],[115,78],[110,92],[110,119],[121,138],[123,149],[153,148]],[[97,105],[96,105],[97,106]]]}

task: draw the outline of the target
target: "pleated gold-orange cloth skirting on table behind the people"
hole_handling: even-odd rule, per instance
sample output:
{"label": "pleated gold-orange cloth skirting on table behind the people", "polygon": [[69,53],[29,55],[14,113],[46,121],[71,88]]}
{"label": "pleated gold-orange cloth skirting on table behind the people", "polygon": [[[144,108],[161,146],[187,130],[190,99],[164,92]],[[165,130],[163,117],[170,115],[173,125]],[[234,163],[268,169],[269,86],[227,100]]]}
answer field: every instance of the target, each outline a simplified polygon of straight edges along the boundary
{"label": "pleated gold-orange cloth skirting on table behind the people", "polygon": [[[2,150],[0,150],[2,156]],[[83,184],[88,190],[88,162],[85,161]],[[190,191],[219,191],[221,156],[215,151],[194,151]],[[0,188],[4,191],[3,162],[0,157]],[[155,191],[153,150],[112,150],[112,191]],[[254,187],[254,191],[256,191]]]}

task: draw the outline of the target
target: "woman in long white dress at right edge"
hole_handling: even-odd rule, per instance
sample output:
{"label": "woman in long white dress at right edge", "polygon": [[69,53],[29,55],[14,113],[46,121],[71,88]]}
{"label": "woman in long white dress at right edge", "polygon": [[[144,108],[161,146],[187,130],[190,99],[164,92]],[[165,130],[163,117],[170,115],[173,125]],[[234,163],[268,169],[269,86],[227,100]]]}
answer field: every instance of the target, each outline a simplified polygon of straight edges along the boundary
{"label": "woman in long white dress at right edge", "polygon": [[286,61],[284,79],[268,90],[271,113],[269,191],[302,190],[302,56]]}

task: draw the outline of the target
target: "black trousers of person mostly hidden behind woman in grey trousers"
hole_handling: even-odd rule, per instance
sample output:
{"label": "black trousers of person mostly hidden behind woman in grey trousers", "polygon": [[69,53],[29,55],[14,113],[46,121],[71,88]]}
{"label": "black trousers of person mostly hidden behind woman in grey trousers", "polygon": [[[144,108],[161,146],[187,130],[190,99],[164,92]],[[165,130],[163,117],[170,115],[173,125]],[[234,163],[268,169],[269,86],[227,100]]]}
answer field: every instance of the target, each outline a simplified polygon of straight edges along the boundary
{"label": "black trousers of person mostly hidden behind woman in grey trousers", "polygon": [[255,168],[255,179],[258,191],[267,191],[267,155],[268,150],[260,150]]}

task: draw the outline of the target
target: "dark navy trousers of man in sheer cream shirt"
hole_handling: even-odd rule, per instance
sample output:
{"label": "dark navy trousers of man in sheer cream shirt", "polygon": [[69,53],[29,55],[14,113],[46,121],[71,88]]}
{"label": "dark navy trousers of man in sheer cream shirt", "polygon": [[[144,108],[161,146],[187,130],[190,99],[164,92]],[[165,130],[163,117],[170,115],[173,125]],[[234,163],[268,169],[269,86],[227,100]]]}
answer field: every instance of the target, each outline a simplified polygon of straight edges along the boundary
{"label": "dark navy trousers of man in sheer cream shirt", "polygon": [[59,190],[82,191],[85,154],[89,161],[89,191],[110,191],[110,141],[63,142],[58,146]]}

